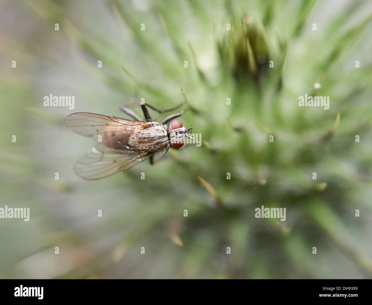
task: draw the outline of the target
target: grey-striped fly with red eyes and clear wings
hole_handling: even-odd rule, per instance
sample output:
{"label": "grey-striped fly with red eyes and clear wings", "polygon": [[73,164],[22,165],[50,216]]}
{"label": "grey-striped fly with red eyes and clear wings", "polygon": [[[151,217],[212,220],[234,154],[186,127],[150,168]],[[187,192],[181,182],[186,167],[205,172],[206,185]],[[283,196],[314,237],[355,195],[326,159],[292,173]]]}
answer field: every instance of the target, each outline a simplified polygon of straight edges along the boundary
{"label": "grey-striped fly with red eyes and clear wings", "polygon": [[160,113],[180,107],[159,110],[141,104],[145,120],[125,106],[121,107],[122,111],[134,120],[88,112],[68,115],[64,121],[68,128],[98,142],[77,161],[74,166],[76,174],[95,180],[131,168],[146,159],[153,164],[155,155],[169,148],[180,149],[185,138],[193,139],[189,135],[192,127],[186,129],[180,121],[172,121],[180,117],[183,111],[169,115],[160,123],[151,120],[146,106]]}

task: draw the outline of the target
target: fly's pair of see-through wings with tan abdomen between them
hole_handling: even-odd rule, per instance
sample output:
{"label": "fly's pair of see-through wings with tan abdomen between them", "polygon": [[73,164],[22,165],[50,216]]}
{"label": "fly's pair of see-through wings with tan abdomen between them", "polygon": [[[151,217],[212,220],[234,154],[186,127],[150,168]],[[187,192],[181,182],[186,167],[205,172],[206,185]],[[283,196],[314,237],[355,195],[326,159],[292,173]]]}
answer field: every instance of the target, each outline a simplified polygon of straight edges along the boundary
{"label": "fly's pair of see-through wings with tan abdomen between them", "polygon": [[77,112],[65,118],[68,128],[82,136],[92,137],[98,143],[75,164],[80,177],[95,180],[128,169],[150,158],[146,152],[129,145],[129,139],[150,125],[140,121],[108,117],[106,115]]}

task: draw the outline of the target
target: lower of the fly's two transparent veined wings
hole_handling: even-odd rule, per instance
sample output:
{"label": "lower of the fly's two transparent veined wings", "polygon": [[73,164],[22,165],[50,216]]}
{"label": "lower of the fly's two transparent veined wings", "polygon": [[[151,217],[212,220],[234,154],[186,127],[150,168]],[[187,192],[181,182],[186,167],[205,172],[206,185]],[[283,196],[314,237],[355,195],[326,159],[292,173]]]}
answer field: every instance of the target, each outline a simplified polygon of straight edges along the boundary
{"label": "lower of the fly's two transparent veined wings", "polygon": [[92,147],[75,164],[76,174],[87,180],[96,180],[131,168],[153,155],[152,152],[128,152],[110,149],[102,143]]}

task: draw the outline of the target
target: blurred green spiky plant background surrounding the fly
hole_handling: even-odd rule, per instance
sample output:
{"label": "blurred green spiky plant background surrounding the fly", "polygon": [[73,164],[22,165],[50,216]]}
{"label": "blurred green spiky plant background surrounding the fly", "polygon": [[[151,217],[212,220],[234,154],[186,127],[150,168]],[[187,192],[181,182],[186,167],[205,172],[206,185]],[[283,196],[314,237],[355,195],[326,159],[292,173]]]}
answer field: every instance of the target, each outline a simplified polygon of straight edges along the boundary
{"label": "blurred green spiky plant background surrounding the fly", "polygon": [[[371,278],[371,18],[371,1],[2,1],[0,207],[30,220],[0,219],[0,277]],[[75,175],[94,142],[64,117],[128,102],[142,117],[141,98],[186,98],[202,146]]]}

